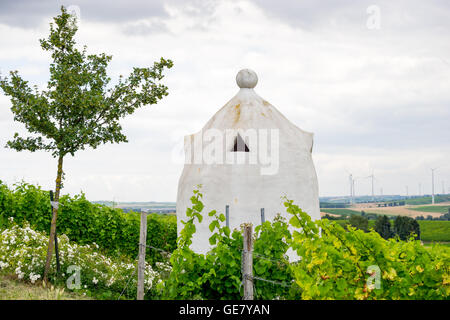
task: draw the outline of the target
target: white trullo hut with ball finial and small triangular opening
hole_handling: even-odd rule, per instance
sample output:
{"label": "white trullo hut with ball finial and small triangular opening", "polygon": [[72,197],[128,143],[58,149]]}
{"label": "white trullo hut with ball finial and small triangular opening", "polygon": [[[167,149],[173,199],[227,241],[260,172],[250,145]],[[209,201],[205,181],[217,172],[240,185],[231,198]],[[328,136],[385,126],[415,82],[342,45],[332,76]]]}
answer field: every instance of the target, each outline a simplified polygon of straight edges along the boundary
{"label": "white trullo hut with ball finial and small triangular opening", "polygon": [[178,184],[178,232],[197,185],[202,185],[203,222],[197,224],[191,248],[205,253],[209,245],[207,213],[225,213],[229,226],[261,224],[277,213],[288,217],[282,196],[294,200],[313,220],[320,219],[316,171],[311,157],[313,134],[303,131],[265,101],[253,88],[256,73],[239,71],[239,92],[203,127],[185,137],[186,163]]}

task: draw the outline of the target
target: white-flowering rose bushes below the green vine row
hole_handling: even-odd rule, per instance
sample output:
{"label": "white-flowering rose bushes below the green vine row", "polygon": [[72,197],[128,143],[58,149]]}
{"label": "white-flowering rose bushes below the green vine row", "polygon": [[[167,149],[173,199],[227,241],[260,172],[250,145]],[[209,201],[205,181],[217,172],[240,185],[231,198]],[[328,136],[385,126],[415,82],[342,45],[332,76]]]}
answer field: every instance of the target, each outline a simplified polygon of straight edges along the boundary
{"label": "white-flowering rose bushes below the green vine row", "polygon": [[[45,265],[48,235],[45,231],[32,229],[28,222],[19,226],[11,220],[8,219],[9,226],[0,232],[0,279],[15,276],[19,280],[37,284],[36,281],[40,280]],[[135,257],[105,255],[99,250],[98,245],[80,245],[70,241],[64,234],[59,235],[58,249],[62,272],[49,274],[49,279],[58,287],[65,288],[66,291],[83,293],[95,299],[136,298]],[[78,289],[67,286],[73,281],[73,266],[82,267],[80,274],[82,285]],[[146,263],[144,271],[146,298],[155,298],[158,295],[155,290],[156,283],[167,272],[170,272],[167,262],[156,263],[153,266]],[[3,291],[0,280],[2,299],[4,299]],[[32,298],[23,294],[23,299]]]}

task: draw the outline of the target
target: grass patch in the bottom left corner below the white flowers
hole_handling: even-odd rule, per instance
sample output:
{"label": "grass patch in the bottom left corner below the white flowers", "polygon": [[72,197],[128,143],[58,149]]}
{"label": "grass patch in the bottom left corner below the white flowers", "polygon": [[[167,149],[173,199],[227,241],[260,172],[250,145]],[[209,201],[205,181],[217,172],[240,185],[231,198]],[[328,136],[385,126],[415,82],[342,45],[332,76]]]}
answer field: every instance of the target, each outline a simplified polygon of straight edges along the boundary
{"label": "grass patch in the bottom left corner below the white flowers", "polygon": [[0,300],[87,300],[89,298],[63,288],[45,288],[9,276],[0,276]]}

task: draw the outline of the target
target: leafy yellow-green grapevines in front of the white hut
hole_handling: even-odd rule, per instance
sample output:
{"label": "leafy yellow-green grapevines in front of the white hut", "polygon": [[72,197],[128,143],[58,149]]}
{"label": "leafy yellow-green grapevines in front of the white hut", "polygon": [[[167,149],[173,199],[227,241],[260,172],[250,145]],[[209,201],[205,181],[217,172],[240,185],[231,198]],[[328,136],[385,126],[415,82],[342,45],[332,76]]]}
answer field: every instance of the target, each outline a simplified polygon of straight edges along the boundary
{"label": "leafy yellow-green grapevines in front of the white hut", "polygon": [[[209,238],[212,248],[206,254],[189,248],[196,226],[203,221],[201,199],[202,194],[195,190],[178,248],[171,257],[173,271],[159,288],[167,299],[240,299],[241,231],[231,232],[223,226],[223,214],[213,210],[209,213],[214,217]],[[413,237],[407,241],[385,240],[375,231],[364,232],[351,226],[346,230],[328,219],[312,221],[292,200],[285,199],[284,205],[291,216],[289,223],[277,218],[255,228],[253,274],[257,299],[450,296],[450,258],[443,247],[427,249]],[[301,259],[289,262],[289,248]]]}

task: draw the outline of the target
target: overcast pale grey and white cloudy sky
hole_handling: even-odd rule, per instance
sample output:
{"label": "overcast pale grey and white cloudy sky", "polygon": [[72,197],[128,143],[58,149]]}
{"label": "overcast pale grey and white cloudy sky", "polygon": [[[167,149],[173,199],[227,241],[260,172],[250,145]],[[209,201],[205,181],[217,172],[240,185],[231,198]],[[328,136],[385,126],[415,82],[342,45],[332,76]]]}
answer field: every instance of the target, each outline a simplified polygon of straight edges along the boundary
{"label": "overcast pale grey and white cloudy sky", "polygon": [[[375,174],[375,193],[450,190],[450,2],[442,1],[0,1],[0,69],[41,87],[49,56],[38,39],[61,4],[80,15],[77,42],[113,55],[117,79],[159,57],[174,67],[169,96],[122,121],[129,143],[78,152],[64,193],[90,200],[175,201],[182,164],[172,152],[256,71],[256,92],[314,132],[320,196],[347,195],[348,174]],[[377,20],[379,13],[379,20]],[[3,148],[14,132],[0,93],[0,179],[54,188],[49,153]],[[370,179],[356,194],[370,194]]]}

